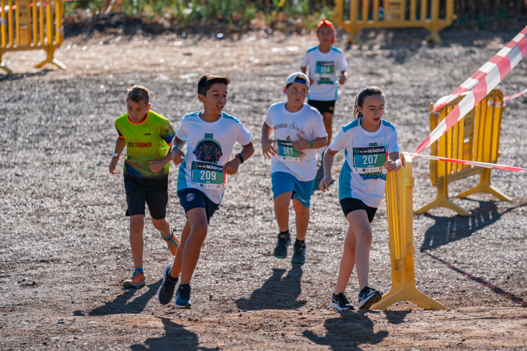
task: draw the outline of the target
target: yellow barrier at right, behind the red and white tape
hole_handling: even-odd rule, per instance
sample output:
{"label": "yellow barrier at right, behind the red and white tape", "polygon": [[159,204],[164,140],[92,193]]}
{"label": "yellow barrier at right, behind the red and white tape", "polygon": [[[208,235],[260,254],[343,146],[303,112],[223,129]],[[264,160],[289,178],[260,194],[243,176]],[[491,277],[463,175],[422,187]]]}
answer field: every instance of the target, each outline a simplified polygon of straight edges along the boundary
{"label": "yellow barrier at right, behind the red and white tape", "polygon": [[[436,113],[430,114],[431,131],[440,121],[443,121],[463,97],[458,97]],[[431,155],[464,161],[497,163],[500,157],[501,116],[505,111],[502,102],[502,92],[494,89],[469,114],[431,145]],[[430,111],[432,108],[433,104],[430,104]],[[503,201],[511,200],[491,185],[490,168],[430,160],[430,179],[432,185],[437,187],[437,197],[430,204],[416,210],[415,213],[424,213],[434,207],[446,207],[462,216],[469,216],[470,213],[467,210],[454,204],[448,198],[448,183],[474,174],[480,174],[479,184],[458,194],[457,197],[466,197],[473,193],[487,193]]]}

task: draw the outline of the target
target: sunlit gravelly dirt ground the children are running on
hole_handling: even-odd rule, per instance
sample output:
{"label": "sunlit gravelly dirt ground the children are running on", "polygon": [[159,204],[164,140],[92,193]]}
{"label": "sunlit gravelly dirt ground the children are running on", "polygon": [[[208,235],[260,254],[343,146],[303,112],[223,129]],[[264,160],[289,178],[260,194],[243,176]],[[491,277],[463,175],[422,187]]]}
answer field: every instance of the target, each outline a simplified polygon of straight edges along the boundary
{"label": "sunlit gravelly dirt ground the children are running on", "polygon": [[[352,118],[358,89],[379,85],[389,106],[385,118],[398,128],[401,149],[413,151],[429,132],[428,104],[520,29],[443,31],[442,45],[424,42],[420,29],[364,32],[362,44],[352,46],[339,37],[350,68],[334,131]],[[448,310],[410,302],[344,313],[327,307],[347,227],[338,180],[329,194],[314,190],[306,264],[291,265],[291,253],[272,256],[277,225],[260,128],[315,41],[264,32],[221,40],[81,34],[56,52],[66,71],[33,68],[43,52],[6,54],[15,73],[0,72],[0,349],[527,349],[525,174],[492,171],[493,185],[512,202],[476,194],[454,198],[469,217],[447,209],[414,215],[417,288]],[[521,91],[526,71],[524,59],[498,88],[505,95]],[[211,220],[192,280],[192,310],[175,310],[155,296],[172,256],[148,214],[147,285],[121,287],[133,265],[122,173],[108,173],[113,123],[125,112],[126,88],[137,83],[151,89],[153,111],[177,127],[184,114],[200,109],[196,82],[207,72],[232,78],[225,111],[254,133],[257,152],[229,179]],[[521,97],[506,108],[501,164],[527,166],[526,103]],[[338,154],[334,175],[343,161]],[[174,170],[167,216],[178,232],[184,215]],[[435,196],[427,161],[414,161],[414,177],[417,209]],[[476,182],[477,176],[458,180],[450,192]],[[386,219],[383,201],[370,260],[370,284],[383,293],[391,288]],[[290,222],[294,232],[292,216]],[[353,275],[347,295],[355,305],[357,289]]]}

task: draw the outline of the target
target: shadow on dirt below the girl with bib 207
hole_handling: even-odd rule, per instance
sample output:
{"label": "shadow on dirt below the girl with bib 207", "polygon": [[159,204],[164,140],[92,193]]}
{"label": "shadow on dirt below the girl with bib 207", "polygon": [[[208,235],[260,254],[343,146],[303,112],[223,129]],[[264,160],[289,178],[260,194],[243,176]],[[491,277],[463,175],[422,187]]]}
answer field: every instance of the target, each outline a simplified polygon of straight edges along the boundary
{"label": "shadow on dirt below the girl with bib 207", "polygon": [[311,330],[304,330],[302,335],[318,345],[329,346],[332,350],[360,350],[358,345],[375,345],[388,336],[386,330],[373,332],[373,322],[366,316],[366,311],[345,311],[339,314],[340,318],[327,319],[324,323],[326,335],[317,336]]}

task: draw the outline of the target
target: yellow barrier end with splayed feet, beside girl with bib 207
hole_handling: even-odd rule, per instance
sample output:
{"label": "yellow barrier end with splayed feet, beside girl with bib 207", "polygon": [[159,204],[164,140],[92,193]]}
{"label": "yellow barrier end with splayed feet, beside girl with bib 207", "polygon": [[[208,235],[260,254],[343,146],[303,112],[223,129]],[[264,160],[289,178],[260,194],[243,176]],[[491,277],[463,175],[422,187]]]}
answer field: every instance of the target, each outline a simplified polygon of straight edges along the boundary
{"label": "yellow barrier end with splayed feet, beside girl with bib 207", "polygon": [[396,302],[410,301],[426,309],[448,309],[415,287],[412,157],[402,154],[401,158],[403,167],[386,175],[392,289],[370,308],[384,309]]}

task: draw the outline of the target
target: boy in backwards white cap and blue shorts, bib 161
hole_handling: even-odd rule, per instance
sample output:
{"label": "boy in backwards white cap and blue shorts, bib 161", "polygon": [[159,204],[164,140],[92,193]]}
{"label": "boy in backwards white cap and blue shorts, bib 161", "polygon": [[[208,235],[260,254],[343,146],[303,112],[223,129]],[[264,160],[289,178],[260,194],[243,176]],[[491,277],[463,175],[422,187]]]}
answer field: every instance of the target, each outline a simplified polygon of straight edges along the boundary
{"label": "boy in backwards white cap and blue shorts, bib 161", "polygon": [[[304,103],[309,94],[309,78],[301,72],[287,77],[287,101],[272,104],[262,125],[262,153],[271,158],[271,183],[278,222],[274,256],[285,258],[289,235],[289,203],[293,200],[296,242],[292,263],[303,264],[309,223],[309,200],[317,173],[316,149],[327,142],[322,116]],[[271,139],[271,134],[274,137]]]}

